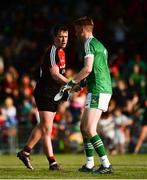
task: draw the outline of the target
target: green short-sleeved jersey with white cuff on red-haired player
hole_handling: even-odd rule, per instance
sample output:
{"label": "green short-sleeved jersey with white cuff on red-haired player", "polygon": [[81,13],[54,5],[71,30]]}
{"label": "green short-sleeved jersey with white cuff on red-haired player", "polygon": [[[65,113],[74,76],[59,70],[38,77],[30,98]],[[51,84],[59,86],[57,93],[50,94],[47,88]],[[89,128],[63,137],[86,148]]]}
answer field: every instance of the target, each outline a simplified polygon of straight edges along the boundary
{"label": "green short-sleeved jersey with white cuff on red-haired player", "polygon": [[93,56],[92,72],[86,78],[88,92],[93,94],[112,94],[110,72],[108,68],[108,53],[106,48],[95,38],[90,37],[84,44],[84,58]]}

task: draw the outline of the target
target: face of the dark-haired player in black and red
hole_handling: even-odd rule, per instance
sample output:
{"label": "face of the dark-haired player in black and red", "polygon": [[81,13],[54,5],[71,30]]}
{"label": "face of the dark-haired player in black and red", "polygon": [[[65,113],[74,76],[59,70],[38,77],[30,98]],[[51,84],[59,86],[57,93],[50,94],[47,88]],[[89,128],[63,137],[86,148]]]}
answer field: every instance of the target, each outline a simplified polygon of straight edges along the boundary
{"label": "face of the dark-haired player in black and red", "polygon": [[68,31],[59,31],[55,37],[55,44],[58,47],[65,48],[68,41]]}

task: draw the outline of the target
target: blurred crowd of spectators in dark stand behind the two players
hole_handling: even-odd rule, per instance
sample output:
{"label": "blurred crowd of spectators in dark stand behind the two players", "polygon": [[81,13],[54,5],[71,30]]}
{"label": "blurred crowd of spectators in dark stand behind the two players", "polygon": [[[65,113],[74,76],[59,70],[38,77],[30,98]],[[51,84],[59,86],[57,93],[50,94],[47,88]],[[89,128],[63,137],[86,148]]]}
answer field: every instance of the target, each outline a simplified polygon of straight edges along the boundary
{"label": "blurred crowd of spectators in dark stand behind the two players", "polygon": [[[147,152],[147,1],[6,0],[0,7],[0,153],[22,148],[40,121],[32,93],[54,24],[69,26],[66,76],[71,79],[82,67],[72,22],[85,15],[108,49],[112,77],[113,96],[98,132],[111,154]],[[79,124],[85,98],[84,87],[59,104],[55,152],[83,152]],[[35,152],[42,152],[39,144]]]}

